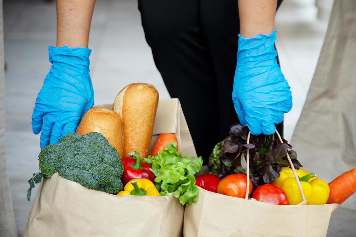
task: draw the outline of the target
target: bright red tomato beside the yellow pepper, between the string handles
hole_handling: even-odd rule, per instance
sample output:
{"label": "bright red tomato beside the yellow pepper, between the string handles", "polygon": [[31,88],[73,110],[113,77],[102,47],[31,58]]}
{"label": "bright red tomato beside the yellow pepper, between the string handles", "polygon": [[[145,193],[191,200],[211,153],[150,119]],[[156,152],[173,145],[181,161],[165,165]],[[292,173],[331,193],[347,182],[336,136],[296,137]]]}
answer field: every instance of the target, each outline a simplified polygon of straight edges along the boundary
{"label": "bright red tomato beside the yellow pepper, between the string handles", "polygon": [[284,191],[273,184],[263,184],[253,191],[252,198],[264,203],[289,205],[288,198]]}

